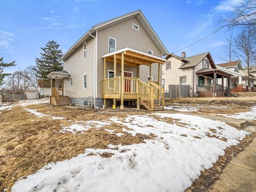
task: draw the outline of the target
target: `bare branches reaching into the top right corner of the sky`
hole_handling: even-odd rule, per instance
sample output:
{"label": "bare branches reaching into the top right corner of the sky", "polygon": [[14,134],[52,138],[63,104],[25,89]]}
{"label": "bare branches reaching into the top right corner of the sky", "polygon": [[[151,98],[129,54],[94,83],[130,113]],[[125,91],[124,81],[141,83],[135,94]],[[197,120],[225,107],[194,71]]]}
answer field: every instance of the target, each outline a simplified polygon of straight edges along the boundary
{"label": "bare branches reaching into the top right corner of the sky", "polygon": [[245,27],[256,25],[256,0],[241,1],[234,11],[221,19],[225,27]]}

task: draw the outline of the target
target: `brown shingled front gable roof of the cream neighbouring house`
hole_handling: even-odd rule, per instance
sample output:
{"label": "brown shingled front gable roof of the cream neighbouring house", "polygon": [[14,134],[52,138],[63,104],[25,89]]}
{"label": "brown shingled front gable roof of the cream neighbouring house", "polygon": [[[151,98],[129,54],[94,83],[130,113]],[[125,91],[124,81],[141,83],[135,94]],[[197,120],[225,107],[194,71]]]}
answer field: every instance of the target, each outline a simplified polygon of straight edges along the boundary
{"label": "brown shingled front gable roof of the cream neighbouring house", "polygon": [[181,67],[179,67],[179,69],[186,69],[186,68],[190,68],[190,67],[195,67],[197,66],[205,57],[207,57],[207,59],[209,60],[211,66],[213,69],[216,69],[215,63],[212,59],[212,56],[210,54],[210,52],[206,52],[206,53],[201,53],[201,54],[197,54],[197,55],[193,55],[191,57],[187,57],[186,60],[188,60],[188,62],[186,62],[184,65],[182,65]]}

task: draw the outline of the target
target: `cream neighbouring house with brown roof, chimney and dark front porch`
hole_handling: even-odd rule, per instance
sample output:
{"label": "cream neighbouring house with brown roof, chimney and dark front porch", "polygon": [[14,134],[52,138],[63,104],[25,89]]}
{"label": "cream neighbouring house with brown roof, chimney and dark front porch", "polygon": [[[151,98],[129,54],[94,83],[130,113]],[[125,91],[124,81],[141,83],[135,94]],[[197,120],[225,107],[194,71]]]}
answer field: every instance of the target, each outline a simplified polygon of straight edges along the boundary
{"label": "cream neighbouring house with brown roof, chimney and dark front porch", "polygon": [[191,96],[223,97],[224,81],[218,84],[218,78],[229,79],[230,73],[220,71],[210,54],[201,53],[186,57],[168,54],[162,68],[162,86],[169,91],[169,85],[191,85]]}

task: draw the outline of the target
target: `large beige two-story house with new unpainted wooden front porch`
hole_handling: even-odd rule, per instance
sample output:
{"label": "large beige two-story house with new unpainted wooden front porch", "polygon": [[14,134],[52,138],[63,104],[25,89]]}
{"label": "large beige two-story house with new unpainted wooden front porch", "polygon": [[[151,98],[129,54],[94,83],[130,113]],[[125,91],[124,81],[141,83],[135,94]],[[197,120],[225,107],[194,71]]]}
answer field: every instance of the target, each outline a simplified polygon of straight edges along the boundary
{"label": "large beige two-story house with new unpainted wooden front porch", "polygon": [[99,23],[63,55],[63,71],[49,74],[52,81],[63,81],[63,90],[58,83],[52,88],[51,102],[58,105],[66,96],[75,105],[123,109],[132,102],[162,110],[159,84],[166,54],[140,10]]}

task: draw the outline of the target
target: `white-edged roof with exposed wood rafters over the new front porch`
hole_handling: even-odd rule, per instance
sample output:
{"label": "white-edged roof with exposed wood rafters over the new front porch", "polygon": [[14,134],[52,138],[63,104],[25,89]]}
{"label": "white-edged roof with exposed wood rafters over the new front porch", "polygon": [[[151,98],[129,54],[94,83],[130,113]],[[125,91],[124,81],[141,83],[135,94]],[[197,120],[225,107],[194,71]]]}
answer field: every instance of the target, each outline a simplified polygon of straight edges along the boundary
{"label": "white-edged roof with exposed wood rafters over the new front porch", "polygon": [[124,64],[131,66],[147,65],[151,66],[152,63],[161,63],[164,64],[166,59],[158,57],[156,55],[148,54],[139,50],[126,47],[124,49],[114,51],[102,55],[102,59],[106,58],[107,61],[114,62],[114,55],[116,55],[116,62],[121,63],[122,52],[124,52]]}

